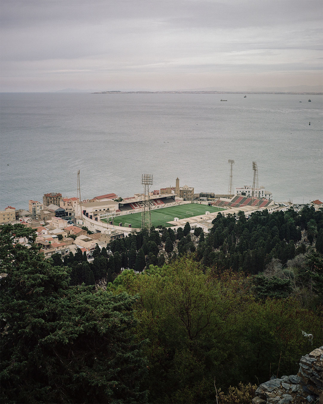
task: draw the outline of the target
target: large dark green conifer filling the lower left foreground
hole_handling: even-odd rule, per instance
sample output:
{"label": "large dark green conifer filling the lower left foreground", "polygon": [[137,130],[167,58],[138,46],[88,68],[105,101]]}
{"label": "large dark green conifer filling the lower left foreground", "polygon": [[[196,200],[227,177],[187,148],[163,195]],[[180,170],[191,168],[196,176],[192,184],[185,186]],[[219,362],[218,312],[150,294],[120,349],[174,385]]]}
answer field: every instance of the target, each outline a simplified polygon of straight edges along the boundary
{"label": "large dark green conifer filling the lower left foreground", "polygon": [[0,228],[2,402],[146,402],[136,297],[69,286],[36,244],[13,245],[21,227]]}

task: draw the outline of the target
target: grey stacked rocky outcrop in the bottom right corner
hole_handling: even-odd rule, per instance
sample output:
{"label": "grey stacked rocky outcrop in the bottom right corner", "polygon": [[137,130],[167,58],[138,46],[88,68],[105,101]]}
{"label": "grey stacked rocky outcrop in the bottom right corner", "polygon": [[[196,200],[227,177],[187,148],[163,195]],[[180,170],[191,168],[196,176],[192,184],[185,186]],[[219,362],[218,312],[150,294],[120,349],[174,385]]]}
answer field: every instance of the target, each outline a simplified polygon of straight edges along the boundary
{"label": "grey stacked rocky outcrop in the bottom right corner", "polygon": [[253,404],[323,404],[323,346],[302,356],[298,375],[282,376],[262,383]]}

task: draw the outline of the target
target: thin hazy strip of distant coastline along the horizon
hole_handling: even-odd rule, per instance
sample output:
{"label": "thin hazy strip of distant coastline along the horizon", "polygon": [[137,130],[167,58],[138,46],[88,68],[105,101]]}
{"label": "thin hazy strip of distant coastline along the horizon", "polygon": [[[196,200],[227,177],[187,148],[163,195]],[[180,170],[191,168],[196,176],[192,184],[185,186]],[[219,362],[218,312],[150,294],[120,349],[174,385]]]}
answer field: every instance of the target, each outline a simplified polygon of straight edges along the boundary
{"label": "thin hazy strip of distant coastline along the horizon", "polygon": [[91,94],[291,94],[323,95],[315,91],[96,91]]}

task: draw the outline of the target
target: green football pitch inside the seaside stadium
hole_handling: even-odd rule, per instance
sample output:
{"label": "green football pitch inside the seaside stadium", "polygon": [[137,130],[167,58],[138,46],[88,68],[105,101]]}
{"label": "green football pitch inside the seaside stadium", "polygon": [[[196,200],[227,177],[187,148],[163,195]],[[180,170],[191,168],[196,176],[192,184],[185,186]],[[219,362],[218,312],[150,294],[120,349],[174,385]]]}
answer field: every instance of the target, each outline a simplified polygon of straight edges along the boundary
{"label": "green football pitch inside the seaside stadium", "polygon": [[[167,222],[174,220],[174,217],[178,217],[179,219],[187,219],[188,217],[192,216],[204,215],[206,212],[219,212],[220,210],[224,209],[195,203],[172,206],[170,208],[159,208],[151,210],[151,225],[154,227],[159,225],[170,227],[172,225]],[[107,219],[102,219],[102,221],[106,222]],[[125,227],[128,227],[128,225],[131,224],[131,227],[140,228],[141,212],[115,217],[113,219],[113,224],[119,225],[119,223],[122,223],[122,226]]]}

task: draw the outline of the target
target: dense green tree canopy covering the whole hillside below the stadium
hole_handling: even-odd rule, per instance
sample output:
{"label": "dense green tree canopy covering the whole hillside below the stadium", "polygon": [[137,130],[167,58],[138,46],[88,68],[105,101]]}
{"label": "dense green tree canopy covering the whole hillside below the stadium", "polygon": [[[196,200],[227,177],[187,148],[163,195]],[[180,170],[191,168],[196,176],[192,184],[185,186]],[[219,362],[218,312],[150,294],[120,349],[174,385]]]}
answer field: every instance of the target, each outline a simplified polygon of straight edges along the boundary
{"label": "dense green tree canopy covering the whole hillside below the stadium", "polygon": [[296,373],[322,345],[322,210],[212,224],[141,231],[92,262],[44,261],[33,230],[2,225],[2,401],[214,403],[215,385]]}

